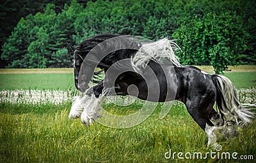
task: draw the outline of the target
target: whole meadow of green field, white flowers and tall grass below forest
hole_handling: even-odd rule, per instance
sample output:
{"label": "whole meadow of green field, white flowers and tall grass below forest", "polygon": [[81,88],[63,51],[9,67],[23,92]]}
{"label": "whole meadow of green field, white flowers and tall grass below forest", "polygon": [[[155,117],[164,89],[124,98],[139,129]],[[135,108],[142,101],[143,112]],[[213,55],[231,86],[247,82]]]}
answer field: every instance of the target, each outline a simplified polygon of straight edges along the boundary
{"label": "whole meadow of green field, white flowers and tall grass below forest", "polygon": [[[225,75],[238,88],[242,103],[255,104],[256,72],[241,69]],[[157,104],[154,113],[136,127],[116,129],[99,123],[85,127],[79,118],[68,120],[72,97],[79,95],[72,71],[19,71],[0,71],[0,162],[255,162],[255,120],[239,130],[239,136],[218,139],[219,153],[238,153],[237,160],[221,159],[218,151],[207,148],[205,132],[180,102],[175,102],[162,120],[163,104]],[[136,100],[127,107],[109,103],[102,107],[109,113],[127,115],[143,104]],[[176,152],[174,159],[164,157],[170,151]],[[204,157],[211,151],[216,158],[177,157],[179,152],[202,153]]]}

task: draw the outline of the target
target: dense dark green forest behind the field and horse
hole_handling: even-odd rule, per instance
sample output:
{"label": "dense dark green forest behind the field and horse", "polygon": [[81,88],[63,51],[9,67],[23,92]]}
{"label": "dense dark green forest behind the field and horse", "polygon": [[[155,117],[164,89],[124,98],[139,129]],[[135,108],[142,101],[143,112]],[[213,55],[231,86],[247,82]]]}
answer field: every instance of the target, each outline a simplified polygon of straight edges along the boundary
{"label": "dense dark green forest behind the field and horse", "polygon": [[1,65],[71,67],[77,45],[99,33],[175,39],[184,65],[256,63],[253,0],[1,1]]}

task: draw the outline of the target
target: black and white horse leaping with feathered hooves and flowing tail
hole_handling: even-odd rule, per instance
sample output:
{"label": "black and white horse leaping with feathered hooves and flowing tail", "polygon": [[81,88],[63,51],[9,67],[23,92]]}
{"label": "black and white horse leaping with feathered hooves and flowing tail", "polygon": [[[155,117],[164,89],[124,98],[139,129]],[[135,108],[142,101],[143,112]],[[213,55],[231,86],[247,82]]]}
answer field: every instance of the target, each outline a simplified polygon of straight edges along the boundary
{"label": "black and white horse leaping with feathered hooves and flowing tail", "polygon": [[[145,41],[145,40],[144,40]],[[152,102],[179,100],[205,131],[208,146],[216,144],[216,131],[251,123],[254,114],[240,104],[234,84],[223,75],[209,75],[194,66],[182,66],[175,56],[179,47],[167,38],[157,42],[121,35],[97,35],[74,50],[74,79],[83,98],[75,97],[69,118],[90,125],[99,118],[106,96],[131,95]],[[104,80],[88,89],[104,71]],[[213,109],[216,102],[217,111]],[[234,133],[231,133],[234,134]]]}

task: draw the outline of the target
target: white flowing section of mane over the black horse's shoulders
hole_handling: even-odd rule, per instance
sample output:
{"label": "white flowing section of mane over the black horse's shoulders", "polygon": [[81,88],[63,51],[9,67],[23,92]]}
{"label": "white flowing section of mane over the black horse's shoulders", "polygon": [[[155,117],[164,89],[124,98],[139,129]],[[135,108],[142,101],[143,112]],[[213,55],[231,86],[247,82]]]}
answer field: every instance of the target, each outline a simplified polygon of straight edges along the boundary
{"label": "white flowing section of mane over the black horse's shoulders", "polygon": [[175,66],[182,66],[175,52],[180,50],[177,43],[168,38],[157,40],[156,42],[142,43],[141,48],[131,58],[134,70],[143,72],[148,62],[153,60],[157,63],[172,63]]}

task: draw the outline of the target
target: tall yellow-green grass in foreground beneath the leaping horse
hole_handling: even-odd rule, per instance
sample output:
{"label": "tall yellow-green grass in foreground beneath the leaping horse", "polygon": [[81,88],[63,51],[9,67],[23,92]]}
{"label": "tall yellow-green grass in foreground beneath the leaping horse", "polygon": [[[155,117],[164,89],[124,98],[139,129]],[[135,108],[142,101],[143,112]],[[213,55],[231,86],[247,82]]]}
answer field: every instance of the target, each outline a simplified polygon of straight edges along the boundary
{"label": "tall yellow-green grass in foreground beneath the leaping horse", "polygon": [[[167,160],[164,153],[214,151],[207,137],[182,104],[159,120],[161,104],[136,127],[115,129],[93,123],[84,127],[79,119],[68,120],[71,104],[1,104],[0,162],[234,162],[235,160]],[[24,111],[24,107],[29,111]],[[135,106],[136,107],[136,106]],[[13,111],[17,109],[17,111]],[[122,108],[120,114],[122,114]],[[10,111],[11,110],[11,111]],[[118,110],[116,110],[118,111]],[[124,114],[124,113],[123,113]],[[239,137],[221,141],[222,151],[254,155],[256,124],[241,130]],[[242,160],[239,160],[243,162]],[[251,160],[252,161],[252,160]]]}

